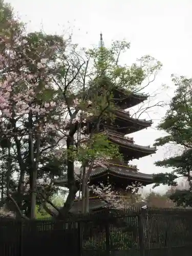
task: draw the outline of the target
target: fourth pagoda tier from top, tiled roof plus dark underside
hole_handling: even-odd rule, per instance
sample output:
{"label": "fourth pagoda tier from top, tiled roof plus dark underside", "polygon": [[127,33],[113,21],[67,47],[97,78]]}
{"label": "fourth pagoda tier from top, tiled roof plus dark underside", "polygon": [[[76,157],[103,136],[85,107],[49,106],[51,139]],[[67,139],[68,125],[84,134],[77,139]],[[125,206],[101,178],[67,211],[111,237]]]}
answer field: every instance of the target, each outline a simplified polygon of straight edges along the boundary
{"label": "fourth pagoda tier from top, tiled roof plus dark underside", "polygon": [[[80,167],[75,168],[75,180],[77,185],[80,183]],[[129,164],[117,164],[114,162],[109,162],[107,167],[97,166],[94,168],[90,174],[90,185],[111,184],[114,188],[125,189],[128,185],[132,183],[139,182],[142,185],[147,185],[152,183],[153,176],[151,174],[143,174],[138,172],[136,165]],[[54,181],[55,185],[68,187],[67,174],[62,178],[56,179]]]}

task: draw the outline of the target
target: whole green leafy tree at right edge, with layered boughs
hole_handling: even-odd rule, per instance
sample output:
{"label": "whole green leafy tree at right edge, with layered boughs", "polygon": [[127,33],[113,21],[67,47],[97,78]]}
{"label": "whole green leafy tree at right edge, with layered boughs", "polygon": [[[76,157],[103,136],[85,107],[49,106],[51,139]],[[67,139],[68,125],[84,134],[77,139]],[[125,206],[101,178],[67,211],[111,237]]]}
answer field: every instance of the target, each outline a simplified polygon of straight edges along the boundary
{"label": "whole green leafy tree at right edge, with layered boughs", "polygon": [[192,205],[192,79],[182,76],[173,77],[173,81],[176,86],[175,96],[170,101],[164,119],[158,125],[158,129],[165,131],[167,135],[158,138],[155,145],[174,144],[177,154],[155,163],[156,166],[172,167],[173,171],[154,175],[154,183],[155,186],[177,186],[177,178],[186,178],[188,189],[176,189],[170,199],[178,206],[188,206]]}

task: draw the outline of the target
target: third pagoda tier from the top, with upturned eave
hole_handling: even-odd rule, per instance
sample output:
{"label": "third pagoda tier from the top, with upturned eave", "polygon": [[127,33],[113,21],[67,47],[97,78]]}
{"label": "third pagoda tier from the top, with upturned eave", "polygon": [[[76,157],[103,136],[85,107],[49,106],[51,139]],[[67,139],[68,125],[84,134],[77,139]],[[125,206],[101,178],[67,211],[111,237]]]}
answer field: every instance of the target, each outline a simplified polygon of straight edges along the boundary
{"label": "third pagoda tier from the top, with upturned eave", "polygon": [[[110,130],[106,130],[102,134],[106,135],[109,141],[119,146],[119,153],[123,155],[125,162],[139,159],[156,152],[156,147],[137,145],[134,143],[133,138],[122,136]],[[81,140],[81,142],[86,142],[86,140]]]}

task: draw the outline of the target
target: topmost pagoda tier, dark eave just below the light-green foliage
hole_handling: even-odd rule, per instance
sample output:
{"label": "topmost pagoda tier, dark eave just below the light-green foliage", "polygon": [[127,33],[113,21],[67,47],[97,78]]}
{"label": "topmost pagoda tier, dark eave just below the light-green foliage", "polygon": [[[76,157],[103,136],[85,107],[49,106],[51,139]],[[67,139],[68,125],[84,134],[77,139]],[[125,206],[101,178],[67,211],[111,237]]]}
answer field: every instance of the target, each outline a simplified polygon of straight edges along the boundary
{"label": "topmost pagoda tier, dark eave just below the light-green foliage", "polygon": [[142,93],[130,93],[126,89],[116,88],[113,90],[115,105],[120,109],[129,109],[148,98],[148,95]]}

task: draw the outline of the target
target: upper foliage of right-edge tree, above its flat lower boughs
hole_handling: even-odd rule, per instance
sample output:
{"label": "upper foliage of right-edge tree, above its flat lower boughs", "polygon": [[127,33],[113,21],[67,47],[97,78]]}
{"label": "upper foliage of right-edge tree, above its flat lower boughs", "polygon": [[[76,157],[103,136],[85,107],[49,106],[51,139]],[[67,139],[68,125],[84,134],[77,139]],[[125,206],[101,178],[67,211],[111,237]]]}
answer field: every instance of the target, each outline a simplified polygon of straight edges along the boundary
{"label": "upper foliage of right-edge tree, above its flat lower boughs", "polygon": [[[170,108],[164,119],[158,125],[159,130],[164,130],[169,137],[157,139],[160,145],[168,142],[175,142],[184,146],[192,145],[192,79],[186,77],[174,77],[176,86],[175,96],[170,102]],[[158,145],[158,144],[157,144]]]}

